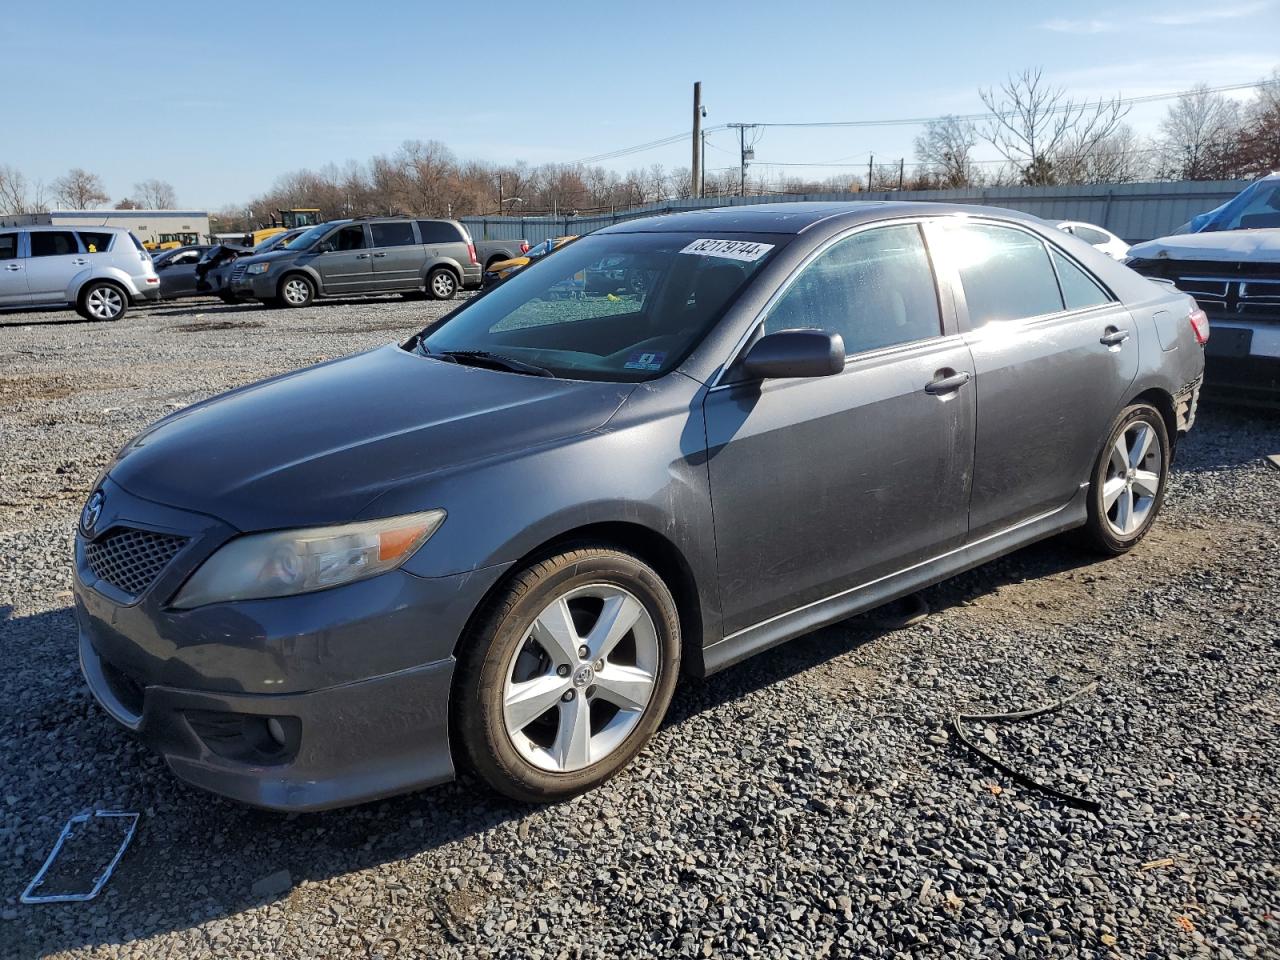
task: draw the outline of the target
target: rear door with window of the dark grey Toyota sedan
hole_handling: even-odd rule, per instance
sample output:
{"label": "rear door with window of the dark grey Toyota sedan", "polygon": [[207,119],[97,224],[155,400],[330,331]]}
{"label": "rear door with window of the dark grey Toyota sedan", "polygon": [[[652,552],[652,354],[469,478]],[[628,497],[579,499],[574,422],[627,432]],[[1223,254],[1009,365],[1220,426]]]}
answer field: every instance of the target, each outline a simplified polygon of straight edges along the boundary
{"label": "rear door with window of the dark grey Toyota sedan", "polygon": [[970,539],[1065,506],[1088,483],[1138,372],[1129,311],[1034,230],[946,218],[931,236],[954,270],[978,376]]}

